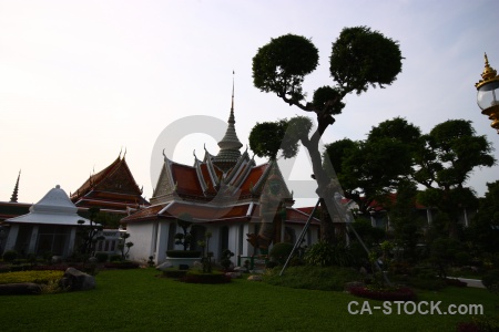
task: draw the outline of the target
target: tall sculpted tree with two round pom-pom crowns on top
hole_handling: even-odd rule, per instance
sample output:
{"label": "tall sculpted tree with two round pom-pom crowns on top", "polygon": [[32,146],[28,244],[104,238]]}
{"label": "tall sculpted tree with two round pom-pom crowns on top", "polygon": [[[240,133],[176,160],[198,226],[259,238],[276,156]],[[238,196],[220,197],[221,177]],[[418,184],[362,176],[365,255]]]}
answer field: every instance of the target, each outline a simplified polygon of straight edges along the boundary
{"label": "tall sculpted tree with two round pom-pom crowns on top", "polygon": [[[310,102],[306,102],[303,90],[305,76],[318,64],[318,50],[310,40],[286,34],[272,39],[259,48],[253,58],[253,83],[263,92],[275,93],[285,103],[302,111],[314,113],[317,128],[299,129],[306,121],[296,121],[296,139],[307,148],[312,159],[317,195],[323,198],[323,210],[334,215],[334,193],[339,191],[323,167],[319,139],[326,128],[335,122],[334,115],[345,107],[343,98],[352,92],[361,94],[369,86],[390,85],[401,72],[401,53],[398,42],[367,27],[345,28],[333,43],[329,73],[335,84],[315,90]],[[309,122],[308,122],[309,124]],[[312,127],[312,126],[310,126]],[[322,237],[333,241],[333,227],[322,224]],[[327,222],[330,224],[330,222]]]}

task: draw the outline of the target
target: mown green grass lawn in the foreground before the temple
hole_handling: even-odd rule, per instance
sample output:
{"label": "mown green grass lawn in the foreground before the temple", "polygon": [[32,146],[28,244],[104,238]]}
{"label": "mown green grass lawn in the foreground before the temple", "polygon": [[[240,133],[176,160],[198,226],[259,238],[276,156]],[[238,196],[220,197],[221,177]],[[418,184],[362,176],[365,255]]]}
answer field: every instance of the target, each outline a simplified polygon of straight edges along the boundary
{"label": "mown green grass lawn in the foreground before the temple", "polygon": [[[96,289],[0,298],[0,331],[456,331],[469,315],[349,314],[343,292],[292,289],[234,280],[193,284],[156,278],[154,269],[108,270]],[[498,297],[483,289],[447,288],[419,300],[483,304],[497,311]],[[371,305],[381,302],[369,301]],[[360,305],[357,309],[360,309]],[[394,307],[394,311],[395,311]]]}

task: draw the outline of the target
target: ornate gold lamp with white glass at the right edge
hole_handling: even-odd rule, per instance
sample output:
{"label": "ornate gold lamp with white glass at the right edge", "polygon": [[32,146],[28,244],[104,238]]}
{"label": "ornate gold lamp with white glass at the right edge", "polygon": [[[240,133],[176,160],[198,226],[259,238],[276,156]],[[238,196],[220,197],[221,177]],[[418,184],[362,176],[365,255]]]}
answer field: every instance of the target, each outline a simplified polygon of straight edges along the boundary
{"label": "ornate gold lamp with white glass at the right edge", "polygon": [[481,73],[482,80],[475,84],[477,87],[477,103],[481,114],[487,115],[492,123],[490,126],[499,134],[499,76],[497,71],[489,65],[487,53],[485,54],[485,69]]}

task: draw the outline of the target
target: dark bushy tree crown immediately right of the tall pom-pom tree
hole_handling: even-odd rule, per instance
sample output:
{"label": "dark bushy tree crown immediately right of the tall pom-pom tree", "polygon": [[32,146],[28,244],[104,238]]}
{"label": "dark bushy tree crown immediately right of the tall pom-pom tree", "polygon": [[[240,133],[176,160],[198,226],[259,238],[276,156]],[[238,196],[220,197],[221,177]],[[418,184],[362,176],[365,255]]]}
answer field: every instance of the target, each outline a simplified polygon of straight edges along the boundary
{"label": "dark bushy tree crown immediately right of the tall pom-pom tree", "polygon": [[365,141],[326,145],[324,157],[329,157],[345,197],[357,203],[361,215],[368,216],[374,200],[389,204],[388,194],[413,174],[420,135],[417,126],[396,117],[373,127]]}

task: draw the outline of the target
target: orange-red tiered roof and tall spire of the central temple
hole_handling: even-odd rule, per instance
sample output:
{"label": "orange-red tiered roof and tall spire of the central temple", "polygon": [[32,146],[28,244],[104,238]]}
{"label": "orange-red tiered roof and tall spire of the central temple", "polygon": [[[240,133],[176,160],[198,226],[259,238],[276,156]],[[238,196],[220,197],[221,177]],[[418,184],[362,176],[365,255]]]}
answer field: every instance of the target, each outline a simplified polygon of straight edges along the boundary
{"label": "orange-red tiered roof and tall spire of the central temple", "polygon": [[172,219],[189,212],[195,222],[259,220],[259,197],[269,176],[279,178],[286,204],[286,220],[305,222],[306,214],[292,208],[289,193],[275,162],[256,165],[237,138],[234,120],[234,82],[227,129],[218,142],[216,156],[205,148],[203,159],[194,155],[193,166],[164,162],[149,208],[121,220],[122,224]]}

